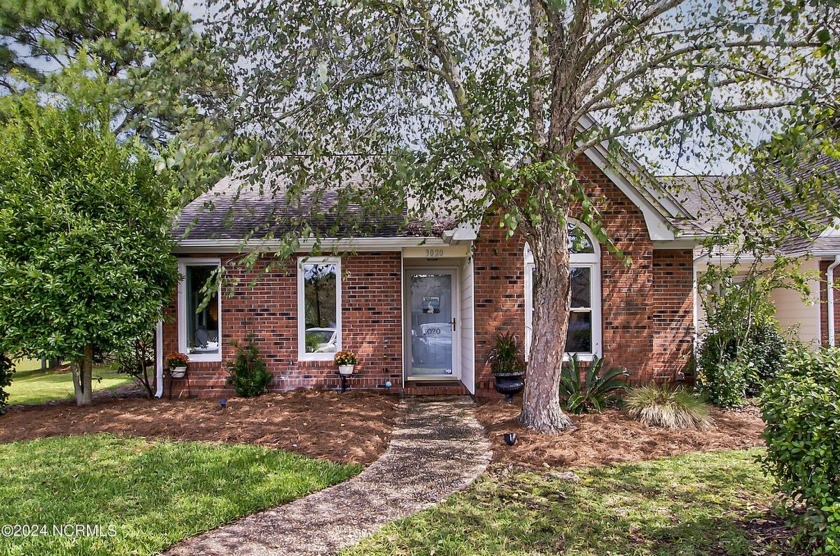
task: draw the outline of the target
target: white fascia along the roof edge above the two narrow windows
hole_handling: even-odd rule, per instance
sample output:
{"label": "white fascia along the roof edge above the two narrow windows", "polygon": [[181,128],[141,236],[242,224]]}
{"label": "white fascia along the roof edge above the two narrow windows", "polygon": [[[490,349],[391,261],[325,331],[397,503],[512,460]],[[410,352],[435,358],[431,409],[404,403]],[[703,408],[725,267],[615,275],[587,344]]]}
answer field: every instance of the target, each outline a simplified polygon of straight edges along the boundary
{"label": "white fascia along the roof edge above the two narrow windows", "polygon": [[[300,252],[309,252],[315,240],[300,242]],[[175,253],[240,253],[251,249],[276,250],[283,245],[277,240],[260,240],[243,243],[241,239],[182,239],[177,242]],[[321,240],[322,251],[402,251],[405,247],[445,247],[448,242],[438,237],[380,237]]]}

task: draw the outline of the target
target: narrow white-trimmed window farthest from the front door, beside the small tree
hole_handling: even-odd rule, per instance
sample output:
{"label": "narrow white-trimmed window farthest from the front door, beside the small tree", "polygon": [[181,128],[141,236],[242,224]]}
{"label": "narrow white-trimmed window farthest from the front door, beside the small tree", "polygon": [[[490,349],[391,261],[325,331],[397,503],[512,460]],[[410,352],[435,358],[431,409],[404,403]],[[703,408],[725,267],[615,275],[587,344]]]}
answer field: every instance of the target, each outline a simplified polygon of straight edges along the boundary
{"label": "narrow white-trimmed window farthest from the front door, beside the small tree", "polygon": [[181,259],[178,270],[178,351],[190,361],[222,360],[222,296],[214,283],[219,259]]}

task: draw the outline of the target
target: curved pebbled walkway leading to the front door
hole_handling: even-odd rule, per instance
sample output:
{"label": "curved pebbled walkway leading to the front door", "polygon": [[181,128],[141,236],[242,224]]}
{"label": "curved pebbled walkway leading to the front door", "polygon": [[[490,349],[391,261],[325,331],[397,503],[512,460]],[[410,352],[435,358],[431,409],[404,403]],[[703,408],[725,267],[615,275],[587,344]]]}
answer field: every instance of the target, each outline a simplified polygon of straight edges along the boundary
{"label": "curved pebbled walkway leading to the front door", "polygon": [[413,398],[385,454],[358,476],[208,531],[167,554],[335,554],[465,488],[490,462],[471,399]]}

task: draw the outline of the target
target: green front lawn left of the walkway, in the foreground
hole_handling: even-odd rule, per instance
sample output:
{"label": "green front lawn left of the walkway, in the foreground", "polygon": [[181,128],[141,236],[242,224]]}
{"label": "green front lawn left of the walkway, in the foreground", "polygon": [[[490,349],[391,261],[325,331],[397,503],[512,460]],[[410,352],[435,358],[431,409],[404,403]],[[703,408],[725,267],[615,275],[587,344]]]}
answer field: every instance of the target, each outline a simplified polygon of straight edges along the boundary
{"label": "green front lawn left of the walkway, in the foreground", "polygon": [[[116,555],[154,554],[362,466],[243,444],[100,434],[0,445],[0,469],[0,526],[47,526],[46,535],[0,536],[0,554]],[[66,524],[99,525],[102,533],[53,534],[53,525]]]}

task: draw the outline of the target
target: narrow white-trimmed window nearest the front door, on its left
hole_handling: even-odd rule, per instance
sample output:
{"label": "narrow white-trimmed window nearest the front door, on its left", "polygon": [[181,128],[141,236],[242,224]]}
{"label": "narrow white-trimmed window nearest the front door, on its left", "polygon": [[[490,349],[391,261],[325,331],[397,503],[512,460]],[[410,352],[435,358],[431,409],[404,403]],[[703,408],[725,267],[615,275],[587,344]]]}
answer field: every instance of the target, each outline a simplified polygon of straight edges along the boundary
{"label": "narrow white-trimmed window nearest the front door, on its left", "polygon": [[341,259],[298,259],[298,358],[331,361],[341,350]]}

